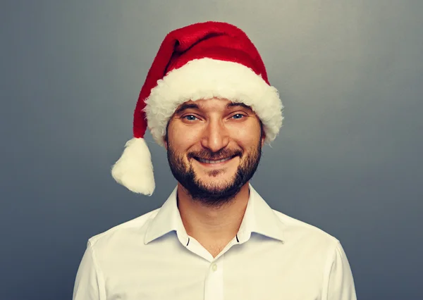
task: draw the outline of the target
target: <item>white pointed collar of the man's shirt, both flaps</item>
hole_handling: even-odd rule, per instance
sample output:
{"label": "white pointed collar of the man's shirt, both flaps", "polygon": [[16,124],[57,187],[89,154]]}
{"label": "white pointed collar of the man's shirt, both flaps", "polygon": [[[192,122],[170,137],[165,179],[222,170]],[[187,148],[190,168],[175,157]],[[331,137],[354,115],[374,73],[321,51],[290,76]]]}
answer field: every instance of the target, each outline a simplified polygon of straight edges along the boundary
{"label": "white pointed collar of the man's shirt, both flaps", "polygon": [[[249,187],[250,198],[237,235],[240,244],[247,242],[252,232],[284,242],[282,221],[252,185],[249,185]],[[177,187],[173,189],[171,195],[152,219],[145,234],[145,244],[171,231],[176,231],[176,235],[182,244],[188,244],[188,234],[180,218],[176,194]]]}

